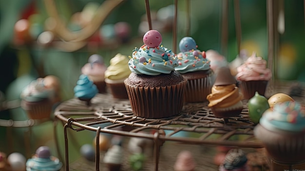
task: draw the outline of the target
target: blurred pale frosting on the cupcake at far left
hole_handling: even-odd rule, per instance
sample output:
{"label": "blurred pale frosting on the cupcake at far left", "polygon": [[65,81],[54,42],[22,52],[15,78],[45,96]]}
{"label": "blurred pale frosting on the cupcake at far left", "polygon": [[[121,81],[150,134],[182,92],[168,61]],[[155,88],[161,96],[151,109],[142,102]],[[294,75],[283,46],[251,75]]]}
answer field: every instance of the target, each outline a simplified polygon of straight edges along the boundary
{"label": "blurred pale frosting on the cupcake at far left", "polygon": [[44,99],[52,100],[55,96],[55,91],[53,88],[47,88],[43,82],[43,78],[33,80],[22,90],[20,98],[29,102],[37,102]]}

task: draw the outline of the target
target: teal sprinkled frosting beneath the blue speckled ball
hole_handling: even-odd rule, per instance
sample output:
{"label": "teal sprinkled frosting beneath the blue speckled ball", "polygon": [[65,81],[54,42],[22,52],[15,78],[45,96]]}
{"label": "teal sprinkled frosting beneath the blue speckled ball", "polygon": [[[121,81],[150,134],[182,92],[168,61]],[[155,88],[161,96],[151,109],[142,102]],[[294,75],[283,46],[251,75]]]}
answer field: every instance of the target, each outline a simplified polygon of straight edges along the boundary
{"label": "teal sprinkled frosting beneath the blue speckled ball", "polygon": [[[198,56],[193,55],[196,51]],[[180,74],[185,74],[194,71],[207,71],[210,69],[210,60],[202,56],[199,50],[191,50],[187,52],[180,52],[178,54],[179,66],[175,70]]]}

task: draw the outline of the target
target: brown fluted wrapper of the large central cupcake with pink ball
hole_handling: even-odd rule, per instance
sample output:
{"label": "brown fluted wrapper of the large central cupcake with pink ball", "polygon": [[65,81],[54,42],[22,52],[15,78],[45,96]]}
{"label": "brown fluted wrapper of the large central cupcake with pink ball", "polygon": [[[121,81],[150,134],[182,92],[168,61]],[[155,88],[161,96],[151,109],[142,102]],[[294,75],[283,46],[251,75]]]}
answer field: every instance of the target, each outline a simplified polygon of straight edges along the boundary
{"label": "brown fluted wrapper of the large central cupcake with pink ball", "polygon": [[183,107],[187,79],[166,87],[125,86],[133,114],[144,118],[163,118],[177,115]]}

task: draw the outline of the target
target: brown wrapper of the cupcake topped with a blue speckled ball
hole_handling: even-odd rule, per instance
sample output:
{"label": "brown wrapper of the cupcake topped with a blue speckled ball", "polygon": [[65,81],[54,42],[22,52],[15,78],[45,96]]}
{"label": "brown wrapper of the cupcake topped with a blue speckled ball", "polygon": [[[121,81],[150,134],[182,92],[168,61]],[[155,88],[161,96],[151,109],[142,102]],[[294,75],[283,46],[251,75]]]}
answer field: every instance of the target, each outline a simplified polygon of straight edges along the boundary
{"label": "brown wrapper of the cupcake topped with a blue speckled ball", "polygon": [[204,102],[211,93],[211,77],[188,79],[184,99],[185,102]]}

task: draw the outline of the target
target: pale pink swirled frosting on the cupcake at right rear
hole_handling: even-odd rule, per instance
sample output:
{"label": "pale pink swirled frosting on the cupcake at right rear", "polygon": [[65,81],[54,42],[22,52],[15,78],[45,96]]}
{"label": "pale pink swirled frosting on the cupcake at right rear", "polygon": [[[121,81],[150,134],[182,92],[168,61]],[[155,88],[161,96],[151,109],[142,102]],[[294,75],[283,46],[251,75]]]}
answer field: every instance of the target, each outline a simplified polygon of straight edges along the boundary
{"label": "pale pink swirled frosting on the cupcake at right rear", "polygon": [[262,57],[256,57],[253,53],[244,64],[237,68],[237,80],[269,80],[272,76],[271,70],[266,68],[267,61]]}

